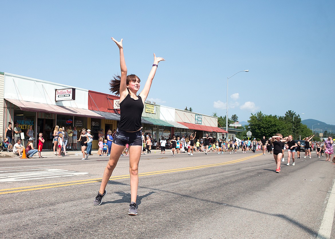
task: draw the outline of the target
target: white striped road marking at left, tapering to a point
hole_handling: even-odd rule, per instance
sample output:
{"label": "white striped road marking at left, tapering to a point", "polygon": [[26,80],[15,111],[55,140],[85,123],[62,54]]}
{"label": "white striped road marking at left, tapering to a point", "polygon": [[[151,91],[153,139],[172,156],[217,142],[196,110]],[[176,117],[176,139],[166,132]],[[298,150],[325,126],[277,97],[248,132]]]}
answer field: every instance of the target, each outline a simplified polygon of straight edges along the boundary
{"label": "white striped road marking at left, tapering to a point", "polygon": [[88,174],[88,172],[76,172],[63,169],[35,169],[36,171],[20,171],[20,172],[10,172],[0,174],[0,182],[15,182],[15,181],[26,181],[26,180],[36,180],[43,178],[52,177],[68,177],[75,175]]}

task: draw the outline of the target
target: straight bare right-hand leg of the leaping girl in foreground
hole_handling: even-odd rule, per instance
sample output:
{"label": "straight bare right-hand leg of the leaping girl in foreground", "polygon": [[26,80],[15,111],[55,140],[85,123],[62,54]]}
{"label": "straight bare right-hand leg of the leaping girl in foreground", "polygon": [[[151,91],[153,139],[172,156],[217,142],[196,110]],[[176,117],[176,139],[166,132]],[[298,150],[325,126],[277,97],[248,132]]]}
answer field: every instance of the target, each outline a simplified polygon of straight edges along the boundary
{"label": "straight bare right-hand leg of the leaping girl in foreground", "polygon": [[138,163],[141,157],[141,146],[129,146],[129,173],[130,173],[130,197],[136,203],[138,189]]}

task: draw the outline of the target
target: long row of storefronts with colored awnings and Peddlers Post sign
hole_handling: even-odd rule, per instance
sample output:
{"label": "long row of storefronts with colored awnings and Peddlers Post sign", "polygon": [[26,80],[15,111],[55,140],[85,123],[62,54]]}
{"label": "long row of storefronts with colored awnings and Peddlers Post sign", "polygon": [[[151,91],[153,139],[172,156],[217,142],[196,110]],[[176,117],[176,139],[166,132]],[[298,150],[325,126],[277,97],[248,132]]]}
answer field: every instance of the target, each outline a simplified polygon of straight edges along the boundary
{"label": "long row of storefronts with colored awnings and Peddlers Post sign", "polygon": [[[3,87],[3,88],[2,88]],[[120,97],[101,92],[74,88],[58,83],[0,72],[0,102],[3,104],[0,119],[2,132],[8,122],[15,123],[24,132],[25,139],[31,127],[34,138],[43,133],[44,148],[51,149],[56,125],[91,129],[92,148],[98,148],[98,134],[106,138],[120,121]],[[2,117],[1,117],[2,114]],[[206,133],[213,138],[224,138],[225,130],[217,127],[217,117],[179,110],[145,102],[142,114],[142,132],[151,133],[154,140],[163,136],[189,136],[196,138]],[[79,135],[77,136],[79,138]]]}

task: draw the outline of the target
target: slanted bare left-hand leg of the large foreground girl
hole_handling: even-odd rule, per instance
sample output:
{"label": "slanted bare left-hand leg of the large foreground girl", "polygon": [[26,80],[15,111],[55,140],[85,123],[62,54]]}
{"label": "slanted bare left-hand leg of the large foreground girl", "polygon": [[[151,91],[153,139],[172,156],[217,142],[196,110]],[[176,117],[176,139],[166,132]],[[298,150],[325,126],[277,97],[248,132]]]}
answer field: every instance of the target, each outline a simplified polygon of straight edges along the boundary
{"label": "slanted bare left-hand leg of the large foreground girl", "polygon": [[123,152],[124,148],[125,146],[112,143],[111,155],[109,156],[109,161],[105,168],[103,179],[101,181],[101,185],[99,189],[100,194],[104,194],[109,178],[111,177],[112,172],[114,168],[116,167],[116,164],[118,163],[120,155]]}

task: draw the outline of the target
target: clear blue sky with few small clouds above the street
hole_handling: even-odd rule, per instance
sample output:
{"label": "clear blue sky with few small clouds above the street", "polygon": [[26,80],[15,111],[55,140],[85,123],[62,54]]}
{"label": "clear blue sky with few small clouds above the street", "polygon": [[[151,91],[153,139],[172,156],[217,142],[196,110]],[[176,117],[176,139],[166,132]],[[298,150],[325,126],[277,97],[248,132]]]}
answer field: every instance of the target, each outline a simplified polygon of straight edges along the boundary
{"label": "clear blue sky with few small clouds above the street", "polygon": [[148,100],[212,115],[284,115],[335,124],[335,1],[1,1],[0,71],[109,93],[120,73]]}

